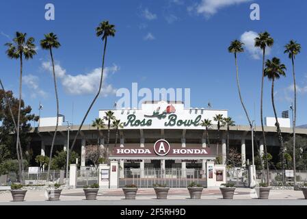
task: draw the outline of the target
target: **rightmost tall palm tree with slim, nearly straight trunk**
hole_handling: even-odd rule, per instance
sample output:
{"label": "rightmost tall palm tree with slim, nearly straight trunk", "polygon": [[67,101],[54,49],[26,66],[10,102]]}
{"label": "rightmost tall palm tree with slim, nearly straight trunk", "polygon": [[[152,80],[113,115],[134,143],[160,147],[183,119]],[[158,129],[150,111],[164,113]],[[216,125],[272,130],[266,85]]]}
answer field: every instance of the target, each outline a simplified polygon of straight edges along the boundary
{"label": "rightmost tall palm tree with slim, nearly straight trunk", "polygon": [[[297,43],[294,40],[290,40],[288,44],[285,46],[286,50],[284,53],[289,54],[289,58],[292,61],[292,71],[293,71],[293,86],[294,86],[294,118],[293,118],[293,172],[294,176],[296,176],[296,168],[295,168],[295,125],[296,125],[296,83],[295,83],[295,68],[294,68],[294,60],[295,55],[301,52],[301,44]],[[296,185],[296,177],[294,177],[293,181],[294,185]]]}

